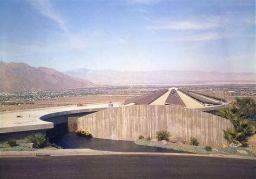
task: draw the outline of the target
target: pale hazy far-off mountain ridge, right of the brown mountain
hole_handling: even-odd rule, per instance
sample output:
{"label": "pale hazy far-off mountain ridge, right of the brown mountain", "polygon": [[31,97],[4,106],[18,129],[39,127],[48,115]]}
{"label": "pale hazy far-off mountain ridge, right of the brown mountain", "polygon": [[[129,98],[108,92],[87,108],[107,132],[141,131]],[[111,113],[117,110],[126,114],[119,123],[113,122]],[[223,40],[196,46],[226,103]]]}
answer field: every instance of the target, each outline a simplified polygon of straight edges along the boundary
{"label": "pale hazy far-off mountain ridge, right of the brown mountain", "polygon": [[213,82],[256,82],[256,73],[221,73],[217,71],[118,71],[88,70],[84,68],[64,71],[73,77],[83,78],[96,84],[174,84]]}

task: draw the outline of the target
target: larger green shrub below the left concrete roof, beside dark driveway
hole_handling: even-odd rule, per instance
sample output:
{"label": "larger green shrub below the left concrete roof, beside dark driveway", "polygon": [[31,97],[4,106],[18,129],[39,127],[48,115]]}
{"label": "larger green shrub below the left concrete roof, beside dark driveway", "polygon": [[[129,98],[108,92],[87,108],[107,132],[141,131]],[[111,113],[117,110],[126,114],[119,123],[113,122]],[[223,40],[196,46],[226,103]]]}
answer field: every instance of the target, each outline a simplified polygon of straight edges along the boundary
{"label": "larger green shrub below the left concrete roof, beside dark driveway", "polygon": [[48,140],[45,138],[45,135],[41,133],[28,135],[26,138],[26,143],[34,143],[35,148],[44,148],[48,146]]}

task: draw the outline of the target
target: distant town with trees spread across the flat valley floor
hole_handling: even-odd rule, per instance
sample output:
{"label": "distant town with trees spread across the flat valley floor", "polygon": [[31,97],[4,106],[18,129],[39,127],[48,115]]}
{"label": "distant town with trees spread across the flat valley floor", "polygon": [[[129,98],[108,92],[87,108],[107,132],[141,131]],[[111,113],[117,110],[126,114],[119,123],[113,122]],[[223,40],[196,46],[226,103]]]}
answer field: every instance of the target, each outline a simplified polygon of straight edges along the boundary
{"label": "distant town with trees spread across the flat valley floor", "polygon": [[[142,95],[163,88],[171,88],[173,85],[123,85],[91,88],[76,88],[60,91],[35,91],[35,92],[0,92],[1,105],[33,104],[35,101],[49,101],[56,98],[82,97],[95,95]],[[200,91],[213,95],[217,90],[224,90],[228,99],[232,97],[251,96],[256,97],[255,84],[228,84],[228,85],[178,85],[177,88]]]}

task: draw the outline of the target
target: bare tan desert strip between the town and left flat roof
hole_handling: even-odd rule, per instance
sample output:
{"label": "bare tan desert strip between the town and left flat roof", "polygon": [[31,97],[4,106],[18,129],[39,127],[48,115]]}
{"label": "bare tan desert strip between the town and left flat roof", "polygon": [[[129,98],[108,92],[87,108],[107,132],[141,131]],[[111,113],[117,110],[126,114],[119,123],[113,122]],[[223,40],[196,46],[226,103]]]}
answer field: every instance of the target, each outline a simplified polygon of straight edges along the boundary
{"label": "bare tan desert strip between the town and left flat roof", "polygon": [[48,108],[54,106],[65,106],[75,104],[93,104],[93,103],[123,103],[125,99],[134,96],[130,95],[95,95],[95,96],[78,96],[78,97],[62,97],[53,100],[35,101],[35,104],[21,105],[0,105],[0,111],[14,111],[35,108]]}

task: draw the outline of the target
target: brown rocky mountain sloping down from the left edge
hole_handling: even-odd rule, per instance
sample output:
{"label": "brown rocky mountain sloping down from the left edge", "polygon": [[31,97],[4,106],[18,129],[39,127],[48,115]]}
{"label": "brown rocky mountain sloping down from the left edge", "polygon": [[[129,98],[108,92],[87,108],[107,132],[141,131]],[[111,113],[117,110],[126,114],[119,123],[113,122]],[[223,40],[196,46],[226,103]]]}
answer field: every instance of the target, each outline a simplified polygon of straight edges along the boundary
{"label": "brown rocky mountain sloping down from the left edge", "polygon": [[0,62],[0,91],[63,90],[95,85],[52,68]]}

